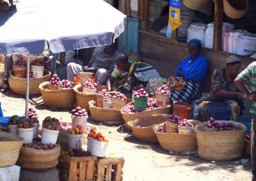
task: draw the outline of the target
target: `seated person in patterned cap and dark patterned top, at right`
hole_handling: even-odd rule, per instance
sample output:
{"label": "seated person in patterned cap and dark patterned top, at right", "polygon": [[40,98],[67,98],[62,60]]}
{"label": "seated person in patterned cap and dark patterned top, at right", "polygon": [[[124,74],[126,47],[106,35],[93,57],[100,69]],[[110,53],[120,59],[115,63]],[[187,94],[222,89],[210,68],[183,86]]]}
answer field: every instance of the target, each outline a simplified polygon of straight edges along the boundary
{"label": "seated person in patterned cap and dark patterned top, at right", "polygon": [[207,121],[205,106],[211,101],[223,101],[231,107],[230,120],[238,120],[241,108],[244,108],[244,94],[234,83],[234,79],[241,68],[241,61],[235,55],[227,59],[227,66],[223,69],[215,69],[212,73],[210,98],[202,101],[197,107],[198,119],[202,122]]}

